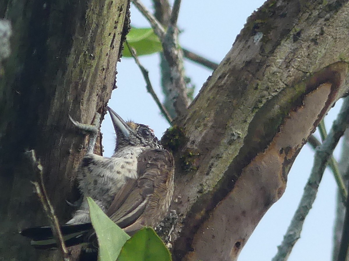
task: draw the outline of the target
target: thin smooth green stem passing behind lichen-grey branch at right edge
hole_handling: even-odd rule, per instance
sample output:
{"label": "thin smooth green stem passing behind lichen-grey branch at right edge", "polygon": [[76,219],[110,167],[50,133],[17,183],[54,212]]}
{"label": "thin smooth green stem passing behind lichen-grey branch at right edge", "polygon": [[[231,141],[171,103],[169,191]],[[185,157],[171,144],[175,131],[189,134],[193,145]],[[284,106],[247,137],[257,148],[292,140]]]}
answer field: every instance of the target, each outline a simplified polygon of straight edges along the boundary
{"label": "thin smooth green stem passing behind lichen-grey branch at right edge", "polygon": [[[327,137],[327,132],[326,132],[324,119],[322,119],[320,121],[320,124],[319,124],[318,127],[319,127],[321,140],[324,141],[326,139],[326,137]],[[343,204],[345,204],[346,200],[347,200],[347,197],[348,197],[348,192],[347,192],[346,186],[344,185],[344,181],[343,181],[342,175],[341,175],[341,173],[339,171],[338,163],[334,159],[333,156],[331,156],[331,158],[329,159],[328,166],[332,170],[334,179],[335,179],[335,181],[337,183],[338,190],[339,190],[339,193],[340,193],[341,198],[342,198],[342,202],[343,202]]]}

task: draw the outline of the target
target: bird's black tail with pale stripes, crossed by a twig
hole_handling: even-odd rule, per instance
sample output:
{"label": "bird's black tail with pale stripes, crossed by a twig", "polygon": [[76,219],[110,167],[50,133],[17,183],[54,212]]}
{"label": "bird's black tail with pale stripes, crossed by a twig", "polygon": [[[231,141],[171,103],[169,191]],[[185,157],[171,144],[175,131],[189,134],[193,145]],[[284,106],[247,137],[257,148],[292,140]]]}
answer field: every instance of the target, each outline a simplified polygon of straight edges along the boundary
{"label": "bird's black tail with pale stripes, crossed by a twig", "polygon": [[[88,241],[93,231],[91,223],[69,224],[61,226],[66,246],[74,246]],[[57,249],[57,240],[53,237],[51,227],[27,228],[20,232],[31,239],[30,244],[38,249]]]}

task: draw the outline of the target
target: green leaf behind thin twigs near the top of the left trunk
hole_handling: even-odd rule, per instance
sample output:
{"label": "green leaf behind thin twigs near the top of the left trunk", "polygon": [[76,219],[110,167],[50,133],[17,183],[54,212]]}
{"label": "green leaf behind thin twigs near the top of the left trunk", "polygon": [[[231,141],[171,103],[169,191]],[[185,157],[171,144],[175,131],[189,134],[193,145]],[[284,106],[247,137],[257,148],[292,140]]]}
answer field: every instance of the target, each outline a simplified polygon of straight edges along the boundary
{"label": "green leaf behind thin twigs near the top of the left trunk", "polygon": [[[126,40],[136,50],[137,56],[162,51],[162,44],[152,28],[132,27],[126,36]],[[127,45],[122,50],[122,56],[132,57]]]}

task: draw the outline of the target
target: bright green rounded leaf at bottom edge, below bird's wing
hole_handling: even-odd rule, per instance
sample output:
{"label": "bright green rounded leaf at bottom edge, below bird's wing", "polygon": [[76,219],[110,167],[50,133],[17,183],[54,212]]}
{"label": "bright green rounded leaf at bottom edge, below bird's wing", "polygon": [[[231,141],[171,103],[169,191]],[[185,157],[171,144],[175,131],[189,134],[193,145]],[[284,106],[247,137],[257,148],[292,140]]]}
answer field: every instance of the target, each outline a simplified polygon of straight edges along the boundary
{"label": "bright green rounded leaf at bottom edge, below bird's wing", "polygon": [[171,261],[171,254],[152,228],[142,228],[122,247],[118,261]]}

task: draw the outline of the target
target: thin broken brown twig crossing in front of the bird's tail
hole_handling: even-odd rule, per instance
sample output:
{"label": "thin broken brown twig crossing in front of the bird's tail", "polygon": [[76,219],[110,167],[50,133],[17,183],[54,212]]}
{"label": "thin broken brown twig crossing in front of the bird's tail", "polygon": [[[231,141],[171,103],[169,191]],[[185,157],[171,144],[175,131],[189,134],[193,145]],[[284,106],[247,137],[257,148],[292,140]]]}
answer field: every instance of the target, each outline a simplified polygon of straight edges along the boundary
{"label": "thin broken brown twig crossing in front of the bird's tail", "polygon": [[69,252],[67,250],[67,247],[64,243],[64,238],[62,235],[62,231],[59,226],[59,221],[57,216],[54,213],[53,206],[50,202],[49,197],[47,196],[47,192],[44,186],[44,179],[43,179],[43,166],[40,163],[40,160],[36,158],[35,151],[30,150],[25,152],[25,155],[29,158],[30,163],[32,165],[33,171],[36,173],[38,176],[38,182],[31,182],[36,190],[36,193],[41,201],[41,204],[45,210],[46,215],[49,217],[51,221],[51,229],[53,231],[53,235],[55,235],[57,241],[58,241],[58,246],[61,250],[61,253],[63,255],[63,258],[65,261],[69,261]]}

